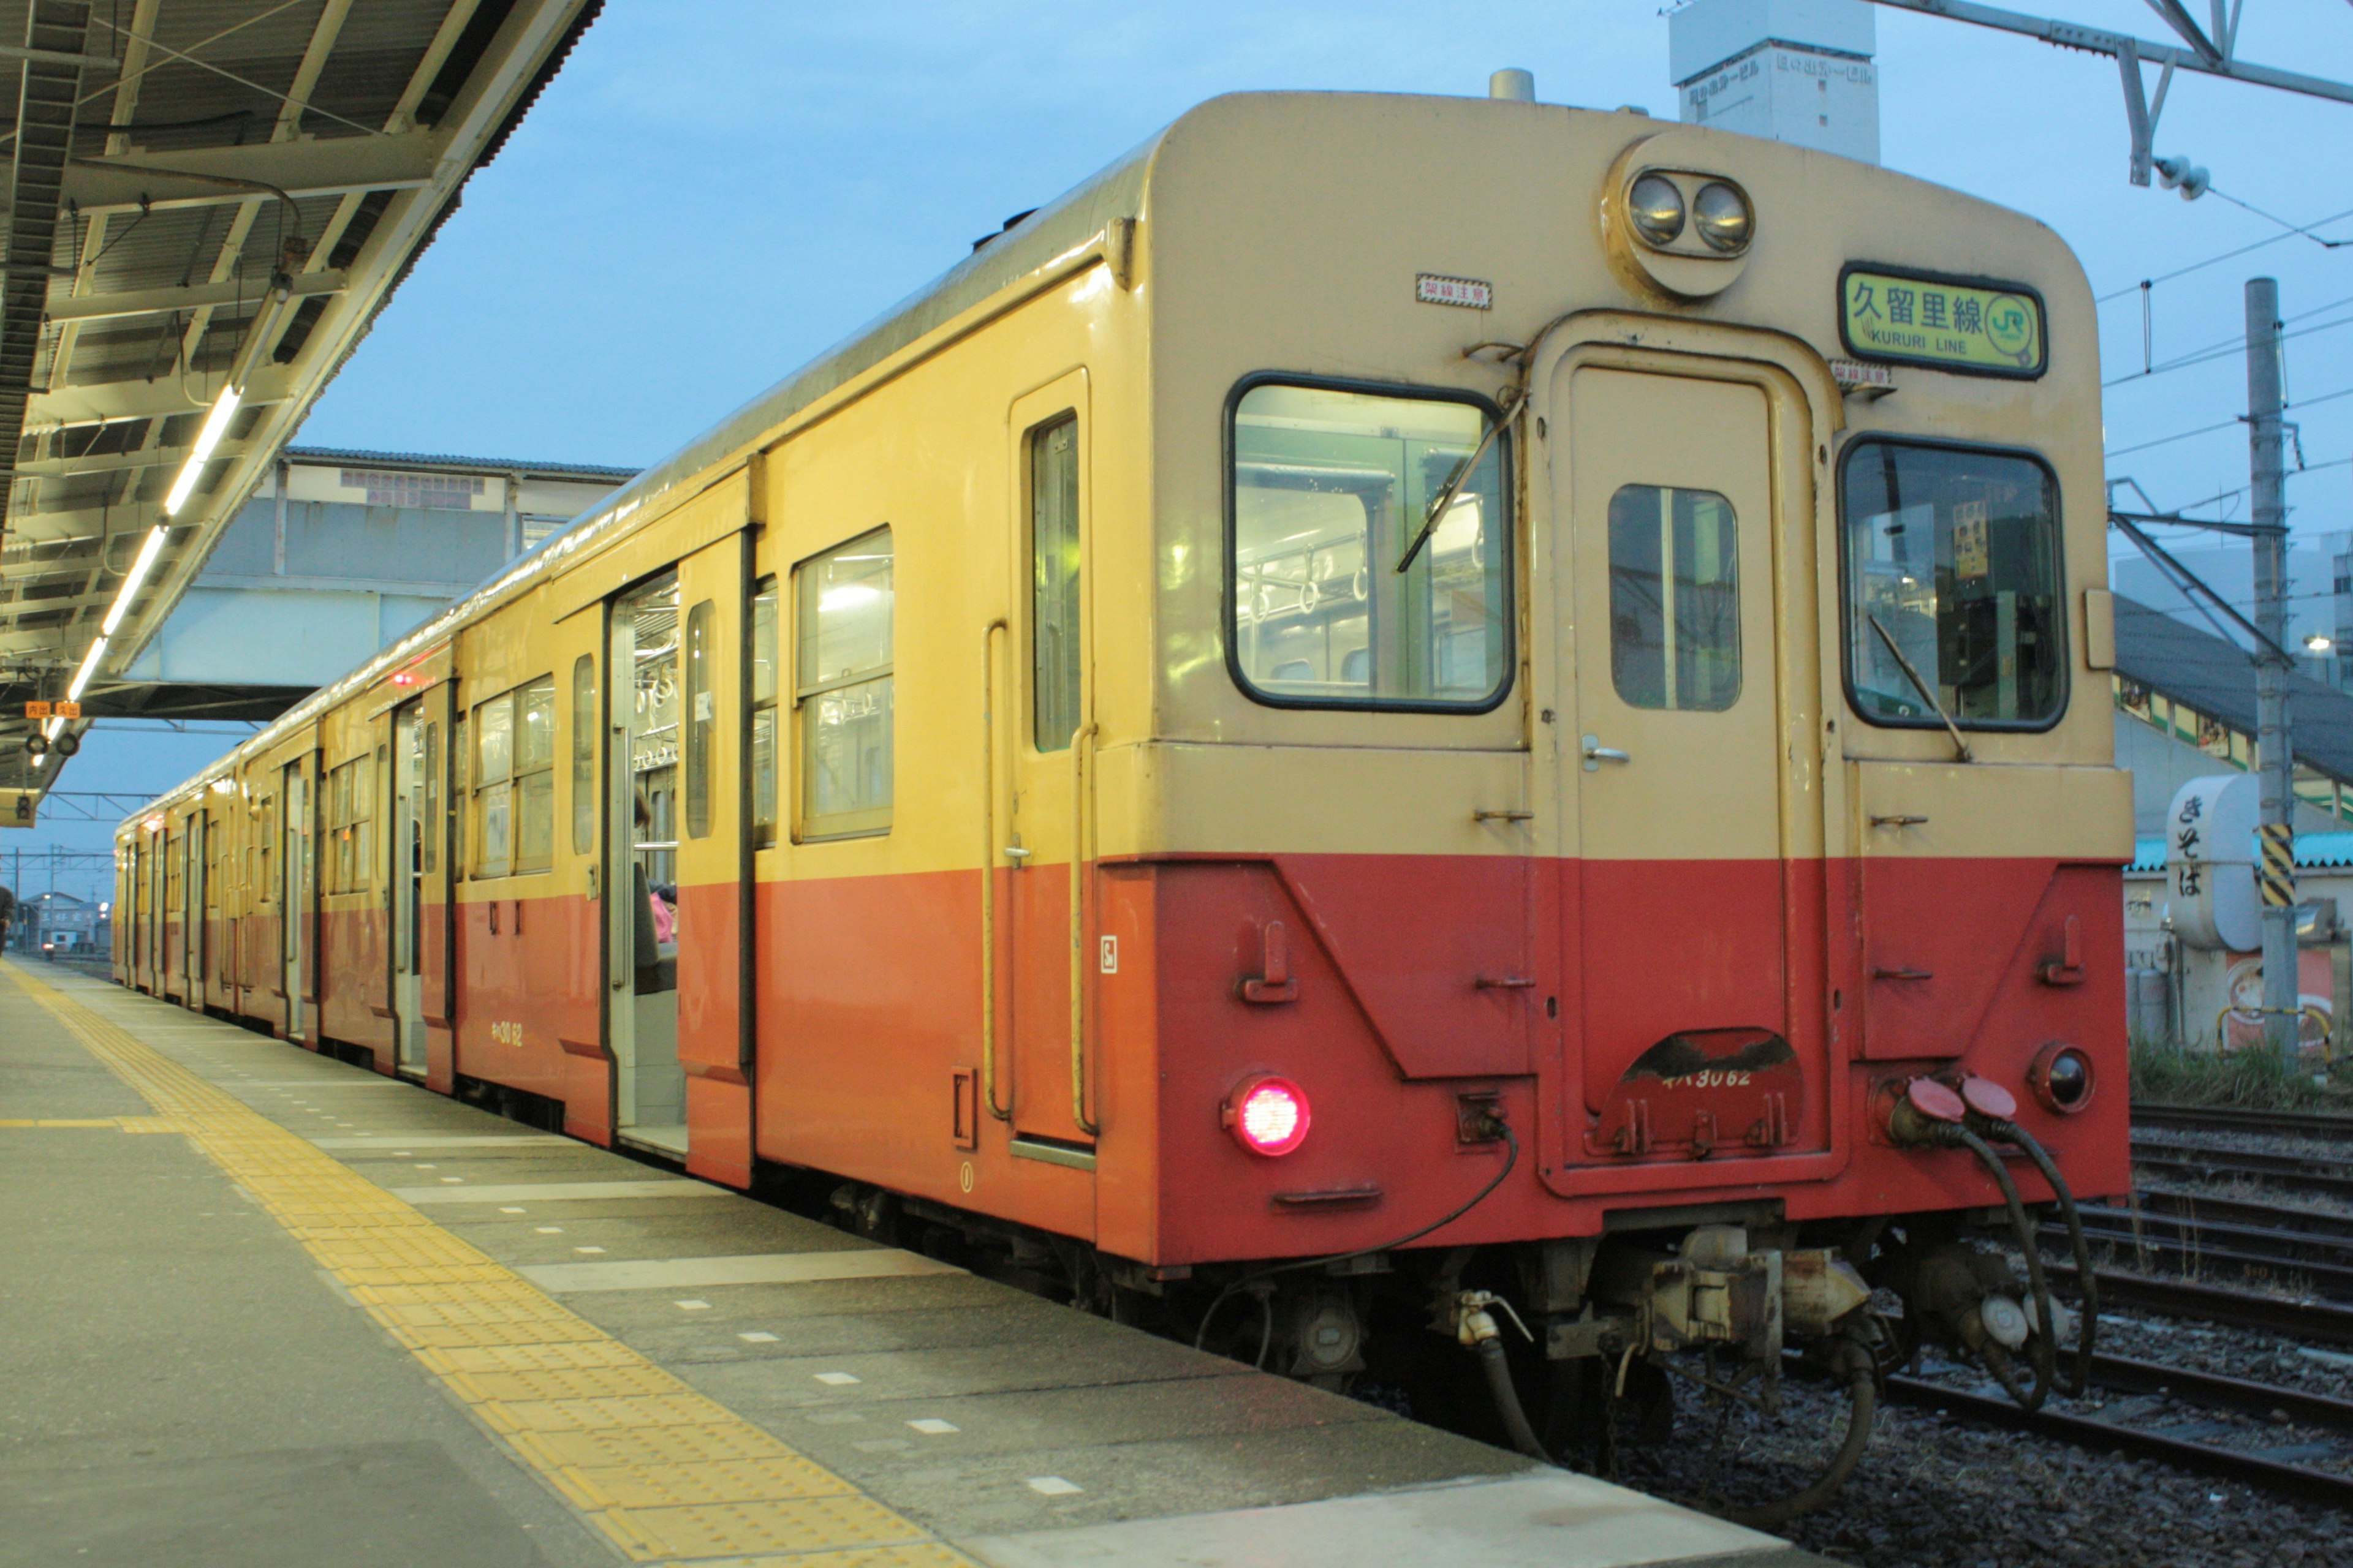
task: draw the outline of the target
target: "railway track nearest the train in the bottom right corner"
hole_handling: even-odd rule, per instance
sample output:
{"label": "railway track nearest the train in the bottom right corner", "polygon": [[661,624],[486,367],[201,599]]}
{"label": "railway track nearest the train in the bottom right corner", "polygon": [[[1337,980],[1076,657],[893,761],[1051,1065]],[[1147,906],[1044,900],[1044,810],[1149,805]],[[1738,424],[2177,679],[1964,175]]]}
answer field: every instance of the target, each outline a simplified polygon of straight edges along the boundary
{"label": "railway track nearest the train in the bottom right corner", "polygon": [[[2009,1432],[2132,1453],[2259,1486],[2297,1502],[2353,1507],[2353,1476],[2313,1467],[2313,1460],[2353,1455],[2353,1401],[2127,1356],[2097,1356],[2092,1382],[2125,1399],[2097,1415],[2073,1415],[2049,1406],[2021,1410],[2007,1396],[1953,1389],[1925,1378],[1889,1378],[1887,1392],[1908,1406],[1946,1410]],[[2214,1420],[2217,1415],[2252,1415],[2289,1427],[2292,1436],[2315,1434],[2318,1441],[2231,1446],[2221,1439],[2247,1439],[2249,1427]],[[2261,1429],[2254,1434],[2271,1436]]]}

